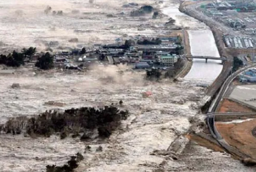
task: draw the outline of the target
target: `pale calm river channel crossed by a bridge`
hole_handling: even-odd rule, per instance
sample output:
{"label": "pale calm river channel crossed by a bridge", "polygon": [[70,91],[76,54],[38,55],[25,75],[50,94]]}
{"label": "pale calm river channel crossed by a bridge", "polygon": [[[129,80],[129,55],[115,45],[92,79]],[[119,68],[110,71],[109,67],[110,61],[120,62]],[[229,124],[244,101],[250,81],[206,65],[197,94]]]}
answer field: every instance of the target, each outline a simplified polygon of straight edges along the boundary
{"label": "pale calm river channel crossed by a bridge", "polygon": [[[192,56],[220,57],[211,30],[204,23],[191,18],[179,11],[179,5],[175,4],[163,8],[163,13],[175,19],[175,24],[182,27],[190,27],[188,30],[190,51]],[[185,76],[188,80],[205,81],[208,84],[213,82],[222,70],[221,60],[193,59],[193,65]]]}

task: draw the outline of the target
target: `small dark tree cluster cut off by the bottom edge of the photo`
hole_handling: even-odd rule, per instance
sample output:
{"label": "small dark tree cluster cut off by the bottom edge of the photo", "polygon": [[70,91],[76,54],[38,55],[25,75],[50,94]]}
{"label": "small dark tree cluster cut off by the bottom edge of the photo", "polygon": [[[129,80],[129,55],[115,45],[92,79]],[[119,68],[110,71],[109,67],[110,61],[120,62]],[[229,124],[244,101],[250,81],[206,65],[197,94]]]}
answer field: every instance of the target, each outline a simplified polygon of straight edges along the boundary
{"label": "small dark tree cluster cut off by the bottom edge of the photo", "polygon": [[62,166],[57,165],[47,165],[46,172],[72,172],[74,169],[78,167],[78,163],[83,160],[84,157],[81,153],[77,153],[76,156],[71,156],[70,160],[68,160],[67,164]]}

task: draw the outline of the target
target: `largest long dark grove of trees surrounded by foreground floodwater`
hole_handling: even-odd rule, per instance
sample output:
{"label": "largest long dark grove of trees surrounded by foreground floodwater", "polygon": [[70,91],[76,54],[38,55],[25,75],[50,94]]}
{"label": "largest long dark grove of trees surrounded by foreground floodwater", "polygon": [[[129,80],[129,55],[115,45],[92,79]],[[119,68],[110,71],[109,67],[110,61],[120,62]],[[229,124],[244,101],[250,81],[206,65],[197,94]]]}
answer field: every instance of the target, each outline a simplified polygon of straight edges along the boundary
{"label": "largest long dark grove of trees surrounded by foreground floodwater", "polygon": [[10,119],[2,130],[12,134],[20,134],[21,131],[26,130],[30,136],[46,137],[58,132],[61,133],[61,138],[65,138],[68,134],[79,136],[78,133],[84,132],[82,137],[90,138],[87,136],[87,132],[97,129],[98,135],[106,138],[120,125],[121,120],[125,120],[128,116],[127,110],[120,111],[113,106],[105,106],[100,109],[72,108],[63,113],[46,110],[30,119]]}

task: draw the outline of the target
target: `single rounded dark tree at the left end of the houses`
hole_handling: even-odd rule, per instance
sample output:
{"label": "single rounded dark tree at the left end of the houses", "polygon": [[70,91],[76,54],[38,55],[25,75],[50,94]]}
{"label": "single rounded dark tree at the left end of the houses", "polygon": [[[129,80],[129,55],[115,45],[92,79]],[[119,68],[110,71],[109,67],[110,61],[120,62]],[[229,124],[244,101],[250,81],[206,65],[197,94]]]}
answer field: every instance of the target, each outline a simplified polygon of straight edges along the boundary
{"label": "single rounded dark tree at the left end of the houses", "polygon": [[54,67],[54,57],[52,57],[51,54],[47,52],[38,59],[38,62],[36,62],[35,66],[43,70],[51,69]]}

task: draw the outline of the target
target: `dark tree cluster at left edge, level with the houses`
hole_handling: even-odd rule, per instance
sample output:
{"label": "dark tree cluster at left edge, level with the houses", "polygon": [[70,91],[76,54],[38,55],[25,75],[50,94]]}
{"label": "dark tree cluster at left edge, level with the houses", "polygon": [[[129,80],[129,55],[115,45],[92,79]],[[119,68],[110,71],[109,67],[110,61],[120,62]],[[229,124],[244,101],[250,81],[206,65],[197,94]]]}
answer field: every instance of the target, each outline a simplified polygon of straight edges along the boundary
{"label": "dark tree cluster at left edge, level with the houses", "polygon": [[28,49],[23,48],[22,52],[13,51],[8,56],[0,55],[0,64],[4,64],[12,67],[19,67],[24,64],[25,58],[31,58],[36,52],[36,48],[30,47]]}

